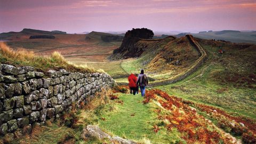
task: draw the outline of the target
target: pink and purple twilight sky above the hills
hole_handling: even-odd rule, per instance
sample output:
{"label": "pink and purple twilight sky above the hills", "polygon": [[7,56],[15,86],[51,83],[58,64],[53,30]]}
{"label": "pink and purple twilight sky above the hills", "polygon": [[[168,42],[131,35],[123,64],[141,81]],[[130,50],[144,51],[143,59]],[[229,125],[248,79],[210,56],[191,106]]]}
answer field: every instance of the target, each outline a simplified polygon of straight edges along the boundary
{"label": "pink and purple twilight sky above the hills", "polygon": [[0,33],[256,30],[256,0],[0,0]]}

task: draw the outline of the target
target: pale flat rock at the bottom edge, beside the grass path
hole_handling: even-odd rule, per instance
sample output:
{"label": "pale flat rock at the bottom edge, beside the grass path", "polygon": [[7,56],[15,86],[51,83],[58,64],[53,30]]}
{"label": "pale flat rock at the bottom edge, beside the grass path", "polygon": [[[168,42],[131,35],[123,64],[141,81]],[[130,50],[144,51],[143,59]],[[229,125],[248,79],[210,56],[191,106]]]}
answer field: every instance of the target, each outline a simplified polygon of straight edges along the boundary
{"label": "pale flat rock at the bottom edge, beside the grass path", "polygon": [[109,134],[106,132],[103,132],[98,126],[95,125],[87,125],[83,129],[83,133],[81,134],[81,137],[83,139],[88,139],[88,138],[97,138],[97,139],[109,139],[111,143],[118,143],[118,144],[135,144],[136,142],[123,139],[120,137],[111,137]]}

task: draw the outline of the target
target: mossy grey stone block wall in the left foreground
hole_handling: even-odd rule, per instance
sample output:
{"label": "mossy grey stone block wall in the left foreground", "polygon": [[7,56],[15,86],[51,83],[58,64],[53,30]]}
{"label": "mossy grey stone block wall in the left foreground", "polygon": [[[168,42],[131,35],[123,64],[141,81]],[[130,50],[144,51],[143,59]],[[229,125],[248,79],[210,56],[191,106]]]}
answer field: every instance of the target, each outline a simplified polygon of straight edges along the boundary
{"label": "mossy grey stone block wall in the left foreground", "polygon": [[70,73],[65,69],[41,73],[33,67],[1,64],[0,134],[58,118],[70,110],[71,103],[86,103],[102,87],[113,84],[107,74]]}

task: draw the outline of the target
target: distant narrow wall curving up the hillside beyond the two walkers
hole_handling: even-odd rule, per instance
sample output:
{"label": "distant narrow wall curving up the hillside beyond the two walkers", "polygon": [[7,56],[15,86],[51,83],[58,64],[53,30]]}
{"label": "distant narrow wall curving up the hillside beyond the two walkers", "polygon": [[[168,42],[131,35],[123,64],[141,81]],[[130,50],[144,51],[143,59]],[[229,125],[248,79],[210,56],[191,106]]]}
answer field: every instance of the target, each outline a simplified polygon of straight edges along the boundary
{"label": "distant narrow wall curving up the hillside beyond the two walkers", "polygon": [[[198,67],[200,67],[202,65],[202,63],[207,59],[207,54],[204,51],[203,47],[201,45],[199,45],[199,43],[193,38],[193,36],[186,35],[186,37],[188,38],[190,44],[193,45],[196,48],[196,50],[200,53],[200,57],[193,63],[193,65],[189,69],[187,69],[183,73],[180,73],[179,75],[176,75],[170,79],[165,79],[162,81],[155,81],[153,83],[149,83],[149,86],[167,85],[167,84],[172,84],[172,83],[178,82],[178,81],[186,78],[190,74],[194,73],[196,71],[196,69]],[[127,84],[125,82],[116,82],[116,83],[118,85],[126,85]]]}

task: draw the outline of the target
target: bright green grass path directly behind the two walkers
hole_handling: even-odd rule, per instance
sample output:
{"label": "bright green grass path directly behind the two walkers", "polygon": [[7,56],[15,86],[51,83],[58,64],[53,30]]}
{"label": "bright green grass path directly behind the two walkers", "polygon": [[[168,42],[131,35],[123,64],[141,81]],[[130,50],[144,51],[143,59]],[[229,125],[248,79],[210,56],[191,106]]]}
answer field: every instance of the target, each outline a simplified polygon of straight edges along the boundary
{"label": "bright green grass path directly behind the two walkers", "polygon": [[106,118],[105,121],[99,121],[102,129],[119,137],[140,142],[150,140],[152,143],[175,143],[181,140],[178,131],[167,132],[163,126],[160,126],[160,131],[154,133],[153,126],[161,122],[153,111],[154,104],[143,105],[140,94],[120,94],[119,98],[123,100],[123,105],[115,103],[114,111],[109,111],[106,106],[102,113],[101,117]]}

